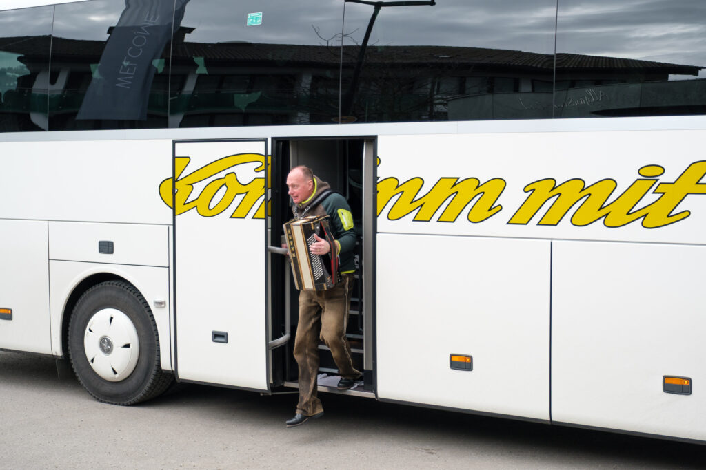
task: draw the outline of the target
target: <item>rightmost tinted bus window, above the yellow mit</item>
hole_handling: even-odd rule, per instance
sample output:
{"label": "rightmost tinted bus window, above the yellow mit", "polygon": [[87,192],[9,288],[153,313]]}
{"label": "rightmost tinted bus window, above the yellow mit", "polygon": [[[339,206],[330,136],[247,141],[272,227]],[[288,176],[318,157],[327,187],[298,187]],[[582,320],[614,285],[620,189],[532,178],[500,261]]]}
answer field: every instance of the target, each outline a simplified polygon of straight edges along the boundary
{"label": "rightmost tinted bus window, above the yellow mit", "polygon": [[706,113],[703,0],[560,0],[557,117]]}

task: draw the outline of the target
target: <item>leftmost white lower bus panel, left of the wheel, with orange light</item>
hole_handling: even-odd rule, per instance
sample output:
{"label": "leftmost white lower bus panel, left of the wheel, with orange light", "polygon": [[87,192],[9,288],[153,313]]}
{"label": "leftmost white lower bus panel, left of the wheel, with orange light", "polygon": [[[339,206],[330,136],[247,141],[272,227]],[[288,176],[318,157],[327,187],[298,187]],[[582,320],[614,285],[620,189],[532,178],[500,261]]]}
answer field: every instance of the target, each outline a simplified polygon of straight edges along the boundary
{"label": "leftmost white lower bus panel, left of the wheel, with orange light", "polygon": [[0,220],[0,348],[52,354],[47,223]]}

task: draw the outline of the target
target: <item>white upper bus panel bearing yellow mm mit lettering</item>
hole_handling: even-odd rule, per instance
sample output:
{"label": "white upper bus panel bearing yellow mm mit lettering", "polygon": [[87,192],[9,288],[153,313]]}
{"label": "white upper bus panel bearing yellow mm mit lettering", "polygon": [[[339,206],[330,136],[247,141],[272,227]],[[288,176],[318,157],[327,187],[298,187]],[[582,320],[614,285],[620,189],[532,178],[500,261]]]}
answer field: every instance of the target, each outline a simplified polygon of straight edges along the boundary
{"label": "white upper bus panel bearing yellow mm mit lettering", "polygon": [[703,140],[702,130],[383,135],[378,231],[701,244]]}

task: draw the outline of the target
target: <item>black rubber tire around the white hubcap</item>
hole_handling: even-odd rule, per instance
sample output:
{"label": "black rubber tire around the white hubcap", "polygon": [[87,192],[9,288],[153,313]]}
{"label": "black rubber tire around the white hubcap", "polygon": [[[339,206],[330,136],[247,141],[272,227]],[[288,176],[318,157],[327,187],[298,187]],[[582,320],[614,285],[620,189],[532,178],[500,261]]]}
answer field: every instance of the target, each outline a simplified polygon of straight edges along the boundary
{"label": "black rubber tire around the white hubcap", "polygon": [[[126,369],[124,378],[105,380],[89,362],[84,337],[89,334],[89,322],[102,314],[99,312],[112,311],[109,309],[124,314],[117,315],[128,328],[129,323],[134,327],[131,330],[132,338],[135,339],[136,333],[138,354],[134,354],[136,363],[132,361],[134,364]],[[112,317],[109,324],[112,325]],[[92,343],[88,344],[91,347]],[[113,351],[112,342],[107,351],[107,354]],[[160,344],[150,305],[133,285],[124,281],[111,280],[97,284],[78,299],[68,324],[68,354],[78,381],[100,402],[136,404],[161,395],[174,381],[174,376],[162,372],[160,366]]]}

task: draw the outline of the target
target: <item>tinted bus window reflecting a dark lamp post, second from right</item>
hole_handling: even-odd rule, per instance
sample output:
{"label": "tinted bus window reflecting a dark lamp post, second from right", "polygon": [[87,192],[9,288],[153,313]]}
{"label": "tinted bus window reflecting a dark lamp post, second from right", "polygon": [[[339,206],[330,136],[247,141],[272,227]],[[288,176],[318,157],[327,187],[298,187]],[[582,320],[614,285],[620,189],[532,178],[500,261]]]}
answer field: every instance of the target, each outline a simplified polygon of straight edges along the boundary
{"label": "tinted bus window reflecting a dark lamp post, second from right", "polygon": [[556,0],[439,0],[377,14],[347,3],[342,120],[551,117],[555,18]]}

